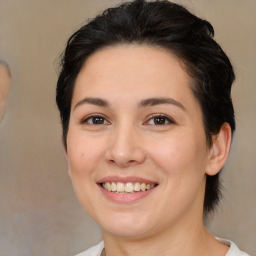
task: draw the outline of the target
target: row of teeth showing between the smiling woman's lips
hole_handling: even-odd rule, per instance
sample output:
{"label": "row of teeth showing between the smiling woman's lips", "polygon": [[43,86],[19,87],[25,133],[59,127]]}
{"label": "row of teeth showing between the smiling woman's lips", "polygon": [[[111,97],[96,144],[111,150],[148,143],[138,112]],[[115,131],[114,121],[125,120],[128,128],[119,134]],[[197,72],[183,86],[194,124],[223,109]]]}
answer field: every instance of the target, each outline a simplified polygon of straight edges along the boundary
{"label": "row of teeth showing between the smiling woman's lips", "polygon": [[134,194],[141,191],[148,191],[157,186],[157,184],[147,184],[140,182],[103,182],[100,183],[101,187],[109,192],[116,194]]}

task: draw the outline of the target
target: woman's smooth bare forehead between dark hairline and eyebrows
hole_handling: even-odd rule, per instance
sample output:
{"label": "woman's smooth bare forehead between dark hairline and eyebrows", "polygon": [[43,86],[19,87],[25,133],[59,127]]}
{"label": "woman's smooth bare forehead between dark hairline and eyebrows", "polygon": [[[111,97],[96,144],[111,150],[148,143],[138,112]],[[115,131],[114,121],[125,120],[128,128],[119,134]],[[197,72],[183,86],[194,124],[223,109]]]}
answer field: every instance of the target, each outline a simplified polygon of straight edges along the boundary
{"label": "woman's smooth bare forehead between dark hairline and eyebrows", "polygon": [[[92,54],[77,76],[74,97],[119,93],[191,93],[191,79],[169,51],[147,45],[118,45]],[[146,96],[146,95],[145,95]],[[149,95],[152,96],[152,95]]]}

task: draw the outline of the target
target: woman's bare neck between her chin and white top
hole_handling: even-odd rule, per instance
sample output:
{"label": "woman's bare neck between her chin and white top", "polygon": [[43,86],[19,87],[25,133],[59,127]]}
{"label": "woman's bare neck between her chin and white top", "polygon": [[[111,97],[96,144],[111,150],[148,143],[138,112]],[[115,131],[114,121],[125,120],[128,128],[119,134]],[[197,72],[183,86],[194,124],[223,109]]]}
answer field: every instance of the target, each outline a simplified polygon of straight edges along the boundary
{"label": "woman's bare neck between her chin and white top", "polygon": [[165,230],[146,238],[116,237],[104,231],[102,233],[106,256],[205,256],[211,255],[210,251],[216,247],[215,238],[204,228],[203,222],[188,225],[182,230],[179,227]]}

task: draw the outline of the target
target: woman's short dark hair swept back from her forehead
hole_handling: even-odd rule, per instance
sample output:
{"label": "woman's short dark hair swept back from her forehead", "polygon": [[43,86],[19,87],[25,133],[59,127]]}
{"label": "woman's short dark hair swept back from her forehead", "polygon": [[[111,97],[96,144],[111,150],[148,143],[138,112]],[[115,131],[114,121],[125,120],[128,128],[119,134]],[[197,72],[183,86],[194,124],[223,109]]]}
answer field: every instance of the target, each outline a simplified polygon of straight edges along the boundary
{"label": "woman's short dark hair swept back from her forehead", "polygon": [[[176,55],[191,78],[191,90],[203,113],[208,146],[224,123],[235,130],[231,86],[232,65],[213,39],[212,25],[181,5],[169,1],[135,0],[105,10],[68,40],[61,59],[56,101],[65,147],[74,84],[86,59],[96,51],[122,44],[151,45]],[[219,173],[206,177],[204,216],[221,198]]]}

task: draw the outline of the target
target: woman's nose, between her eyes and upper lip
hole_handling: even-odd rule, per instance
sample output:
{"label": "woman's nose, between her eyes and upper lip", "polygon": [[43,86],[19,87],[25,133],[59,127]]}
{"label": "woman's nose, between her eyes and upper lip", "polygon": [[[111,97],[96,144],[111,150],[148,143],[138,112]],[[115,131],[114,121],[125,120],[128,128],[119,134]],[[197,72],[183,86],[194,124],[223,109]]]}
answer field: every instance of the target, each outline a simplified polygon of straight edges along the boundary
{"label": "woman's nose, between her eyes and upper lip", "polygon": [[141,136],[134,127],[116,127],[110,136],[106,160],[122,168],[141,164],[146,159],[142,144]]}

